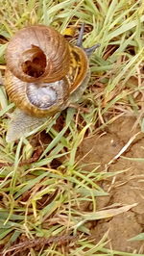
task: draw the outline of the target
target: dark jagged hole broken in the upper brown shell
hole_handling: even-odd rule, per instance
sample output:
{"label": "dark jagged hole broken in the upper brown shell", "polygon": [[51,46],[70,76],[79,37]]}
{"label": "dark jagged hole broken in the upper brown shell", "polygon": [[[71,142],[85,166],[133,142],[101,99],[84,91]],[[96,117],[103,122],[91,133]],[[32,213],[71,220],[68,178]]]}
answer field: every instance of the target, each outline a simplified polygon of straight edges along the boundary
{"label": "dark jagged hole broken in the upper brown shell", "polygon": [[21,67],[25,74],[38,78],[45,72],[46,56],[39,47],[32,45],[31,49],[23,53]]}

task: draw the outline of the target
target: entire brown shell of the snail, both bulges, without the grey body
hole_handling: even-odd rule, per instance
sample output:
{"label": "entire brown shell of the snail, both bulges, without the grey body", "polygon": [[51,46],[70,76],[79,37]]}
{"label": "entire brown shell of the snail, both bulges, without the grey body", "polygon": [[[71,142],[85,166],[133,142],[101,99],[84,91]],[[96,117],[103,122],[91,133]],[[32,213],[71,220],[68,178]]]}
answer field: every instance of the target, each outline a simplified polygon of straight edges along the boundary
{"label": "entire brown shell of the snail, both bulges, without the grey body", "polygon": [[[17,32],[9,42],[6,59],[7,93],[15,106],[28,115],[42,117],[65,109],[73,92],[79,99],[78,90],[87,76],[87,56],[52,27],[30,26]],[[32,102],[32,89],[36,88],[54,89],[56,101],[49,102],[49,94],[43,93],[44,103],[40,100],[44,107],[37,106],[35,100]]]}

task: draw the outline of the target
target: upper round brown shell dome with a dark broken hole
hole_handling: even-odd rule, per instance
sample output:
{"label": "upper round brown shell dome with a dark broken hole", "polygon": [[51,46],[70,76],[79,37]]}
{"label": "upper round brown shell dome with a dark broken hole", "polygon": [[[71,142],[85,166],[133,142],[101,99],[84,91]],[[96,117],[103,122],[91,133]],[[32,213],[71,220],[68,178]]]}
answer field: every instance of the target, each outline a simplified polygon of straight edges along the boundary
{"label": "upper round brown shell dome with a dark broken hole", "polygon": [[6,61],[12,74],[22,81],[55,82],[69,70],[68,42],[52,27],[26,27],[10,40]]}

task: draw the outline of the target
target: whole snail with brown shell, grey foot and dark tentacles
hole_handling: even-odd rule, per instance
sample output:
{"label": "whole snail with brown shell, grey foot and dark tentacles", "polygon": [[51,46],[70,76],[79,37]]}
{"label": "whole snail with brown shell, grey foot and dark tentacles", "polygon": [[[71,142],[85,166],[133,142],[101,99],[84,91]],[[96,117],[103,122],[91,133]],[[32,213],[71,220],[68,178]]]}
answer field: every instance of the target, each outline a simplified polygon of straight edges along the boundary
{"label": "whole snail with brown shell, grey foot and dark tentacles", "polygon": [[25,136],[47,116],[77,102],[90,77],[88,57],[99,46],[83,47],[84,25],[76,45],[50,26],[19,30],[6,50],[5,88],[16,109],[7,141]]}

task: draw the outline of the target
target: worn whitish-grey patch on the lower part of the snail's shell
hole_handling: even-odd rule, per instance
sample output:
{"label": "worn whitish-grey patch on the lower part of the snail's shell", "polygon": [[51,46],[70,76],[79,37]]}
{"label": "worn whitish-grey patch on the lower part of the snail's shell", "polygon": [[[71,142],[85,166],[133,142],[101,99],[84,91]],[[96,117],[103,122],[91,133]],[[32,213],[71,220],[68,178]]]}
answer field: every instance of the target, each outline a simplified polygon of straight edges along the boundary
{"label": "worn whitish-grey patch on the lower part of the snail's shell", "polygon": [[27,97],[31,104],[39,109],[47,109],[57,101],[57,92],[52,87],[38,87],[30,84],[27,88]]}

